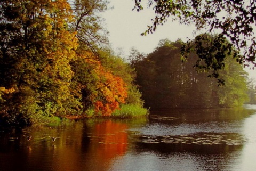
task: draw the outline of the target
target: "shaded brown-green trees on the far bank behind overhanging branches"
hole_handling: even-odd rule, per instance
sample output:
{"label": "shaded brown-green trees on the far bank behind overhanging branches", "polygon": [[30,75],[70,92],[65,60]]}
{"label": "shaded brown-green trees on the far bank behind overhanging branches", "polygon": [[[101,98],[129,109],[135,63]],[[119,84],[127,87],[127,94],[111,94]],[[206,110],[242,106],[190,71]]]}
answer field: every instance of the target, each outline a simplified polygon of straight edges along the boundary
{"label": "shaded brown-green trees on the far bank behind overhanging branches", "polygon": [[247,73],[231,55],[227,55],[226,67],[220,72],[226,85],[218,86],[203,69],[194,70],[193,65],[198,60],[195,53],[190,54],[187,62],[181,63],[182,44],[181,40],[161,40],[146,58],[132,61],[147,107],[228,108],[242,105],[247,100]]}

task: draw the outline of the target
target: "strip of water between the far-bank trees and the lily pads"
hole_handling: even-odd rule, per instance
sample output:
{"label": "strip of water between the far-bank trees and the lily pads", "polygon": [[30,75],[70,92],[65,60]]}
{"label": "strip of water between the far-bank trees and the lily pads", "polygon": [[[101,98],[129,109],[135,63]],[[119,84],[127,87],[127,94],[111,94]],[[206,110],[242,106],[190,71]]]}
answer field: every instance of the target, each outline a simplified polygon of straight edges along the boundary
{"label": "strip of water between the far-bank trees and the lily pads", "polygon": [[152,111],[149,123],[139,132],[142,135],[161,136],[201,132],[241,133],[242,120],[254,111],[245,108]]}

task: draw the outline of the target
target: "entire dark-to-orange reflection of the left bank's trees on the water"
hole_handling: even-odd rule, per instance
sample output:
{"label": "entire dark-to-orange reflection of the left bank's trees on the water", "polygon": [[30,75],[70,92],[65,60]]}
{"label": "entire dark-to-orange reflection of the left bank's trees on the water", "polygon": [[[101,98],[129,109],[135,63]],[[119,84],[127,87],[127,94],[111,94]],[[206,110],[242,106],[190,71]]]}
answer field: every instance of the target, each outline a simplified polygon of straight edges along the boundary
{"label": "entire dark-to-orange reflection of the left bank's trees on the water", "polygon": [[[0,155],[0,168],[6,171],[108,168],[111,160],[127,150],[127,128],[127,124],[113,120],[93,121],[91,125],[86,121],[71,121],[55,127],[23,129],[23,133],[33,135],[31,141],[22,133],[13,134],[19,138],[10,141],[10,134],[0,132],[0,152],[4,152]],[[49,136],[60,138],[52,142]],[[13,151],[17,154],[13,155]]]}

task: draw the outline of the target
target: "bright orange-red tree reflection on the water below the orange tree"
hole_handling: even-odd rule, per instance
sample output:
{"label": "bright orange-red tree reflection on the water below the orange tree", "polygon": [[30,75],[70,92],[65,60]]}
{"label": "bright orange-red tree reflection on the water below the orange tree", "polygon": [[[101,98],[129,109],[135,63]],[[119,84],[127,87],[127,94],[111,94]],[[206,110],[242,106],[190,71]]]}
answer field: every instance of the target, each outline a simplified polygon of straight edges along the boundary
{"label": "bright orange-red tree reflection on the water below the orange tree", "polygon": [[[87,123],[88,124],[88,123]],[[90,125],[90,124],[89,124]],[[127,150],[128,126],[124,123],[112,120],[95,121],[90,126],[84,126],[82,142],[83,170],[102,170],[109,168],[116,156],[123,155]],[[89,136],[88,136],[89,135]]]}

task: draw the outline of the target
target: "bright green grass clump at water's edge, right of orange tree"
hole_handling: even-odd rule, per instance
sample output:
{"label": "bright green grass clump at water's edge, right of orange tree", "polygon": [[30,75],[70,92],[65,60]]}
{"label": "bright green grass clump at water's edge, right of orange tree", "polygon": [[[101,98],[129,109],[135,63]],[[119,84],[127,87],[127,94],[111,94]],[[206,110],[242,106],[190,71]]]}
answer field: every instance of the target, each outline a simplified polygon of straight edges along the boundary
{"label": "bright green grass clump at water's edge, right of orange tree", "polygon": [[149,111],[135,104],[124,104],[120,110],[115,110],[111,116],[115,118],[137,118],[147,116]]}

